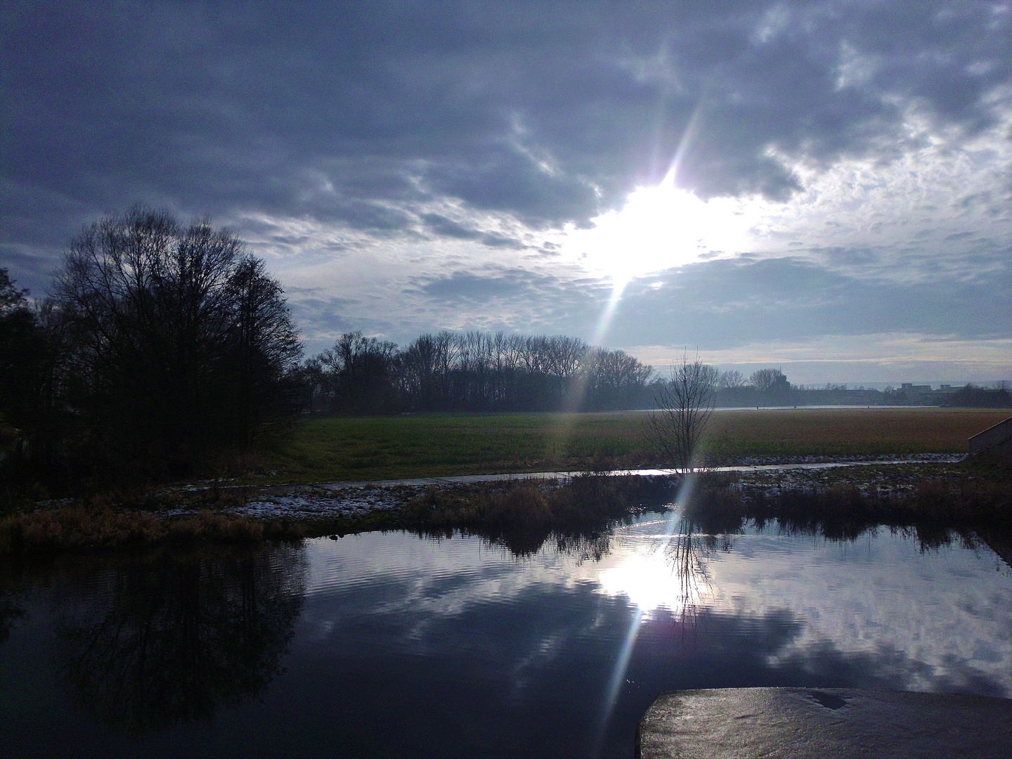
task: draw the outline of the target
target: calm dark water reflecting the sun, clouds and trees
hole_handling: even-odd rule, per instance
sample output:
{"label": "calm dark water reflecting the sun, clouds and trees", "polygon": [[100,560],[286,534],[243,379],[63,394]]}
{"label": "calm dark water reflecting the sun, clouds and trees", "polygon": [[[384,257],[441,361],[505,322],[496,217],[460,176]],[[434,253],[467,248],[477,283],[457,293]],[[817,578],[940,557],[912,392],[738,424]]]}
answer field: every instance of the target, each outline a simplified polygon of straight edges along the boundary
{"label": "calm dark water reflecting the sun, clouds and trees", "polygon": [[662,690],[1012,696],[1012,570],[648,513],[517,557],[405,533],[0,570],[3,756],[631,756]]}

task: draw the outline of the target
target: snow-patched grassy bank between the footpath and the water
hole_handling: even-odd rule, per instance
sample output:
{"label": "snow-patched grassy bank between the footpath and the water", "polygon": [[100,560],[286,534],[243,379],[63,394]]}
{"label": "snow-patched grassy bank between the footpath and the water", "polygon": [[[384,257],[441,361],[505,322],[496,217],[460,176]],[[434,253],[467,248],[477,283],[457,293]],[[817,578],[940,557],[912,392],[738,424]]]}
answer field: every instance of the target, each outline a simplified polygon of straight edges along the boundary
{"label": "snow-patched grassy bank between the footpath and the water", "polygon": [[[694,478],[705,488],[692,499],[693,518],[722,529],[758,517],[810,525],[821,521],[840,534],[872,522],[931,525],[935,532],[981,527],[1012,533],[1007,463],[982,467],[935,454],[757,462],[697,472]],[[560,530],[601,533],[637,510],[669,505],[682,481],[670,470],[518,473],[189,487],[140,499],[51,501],[0,517],[0,557],[163,543],[300,540],[387,529],[462,529],[498,539],[496,534],[516,538],[530,528],[543,540]]]}

